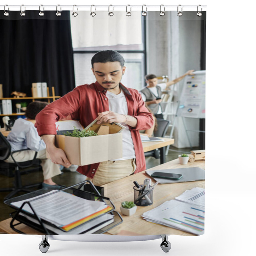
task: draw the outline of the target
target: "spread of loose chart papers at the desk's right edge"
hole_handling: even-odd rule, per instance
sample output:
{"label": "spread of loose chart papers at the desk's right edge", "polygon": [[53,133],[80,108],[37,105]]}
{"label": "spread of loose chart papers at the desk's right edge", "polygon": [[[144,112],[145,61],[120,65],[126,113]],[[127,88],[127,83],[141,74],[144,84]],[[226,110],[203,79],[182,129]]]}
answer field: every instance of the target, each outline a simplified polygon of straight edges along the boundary
{"label": "spread of loose chart papers at the desk's right edge", "polygon": [[204,234],[204,188],[192,188],[166,201],[142,217],[150,222],[196,235]]}

